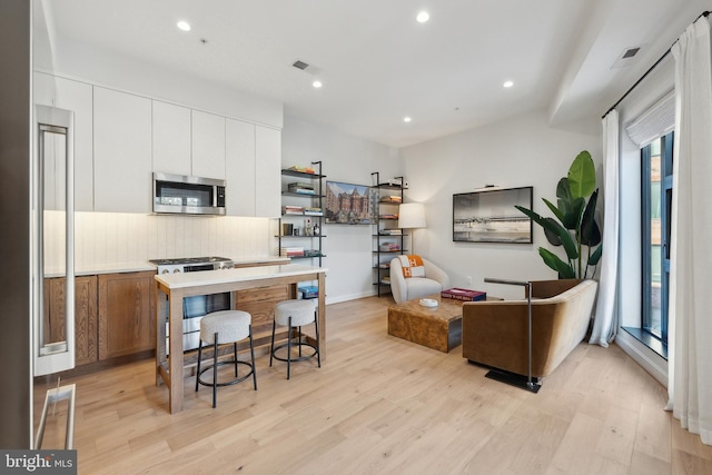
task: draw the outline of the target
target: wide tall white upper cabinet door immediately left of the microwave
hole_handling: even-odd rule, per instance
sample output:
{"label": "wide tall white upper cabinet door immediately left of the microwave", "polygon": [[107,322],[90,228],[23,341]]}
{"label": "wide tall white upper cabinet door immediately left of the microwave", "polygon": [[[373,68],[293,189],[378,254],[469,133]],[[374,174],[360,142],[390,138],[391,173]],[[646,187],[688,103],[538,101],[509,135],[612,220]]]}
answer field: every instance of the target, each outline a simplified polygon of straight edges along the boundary
{"label": "wide tall white upper cabinet door immediately left of the microwave", "polygon": [[151,212],[151,100],[93,88],[95,210]]}

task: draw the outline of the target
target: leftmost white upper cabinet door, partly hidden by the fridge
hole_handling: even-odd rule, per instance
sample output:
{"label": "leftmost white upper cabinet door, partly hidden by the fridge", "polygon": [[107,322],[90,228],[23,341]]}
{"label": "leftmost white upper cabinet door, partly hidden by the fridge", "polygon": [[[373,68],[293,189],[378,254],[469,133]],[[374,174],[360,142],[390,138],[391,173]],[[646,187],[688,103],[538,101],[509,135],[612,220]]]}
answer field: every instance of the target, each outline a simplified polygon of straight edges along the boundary
{"label": "leftmost white upper cabinet door, partly hidden by the fridge", "polygon": [[92,211],[93,110],[91,85],[34,72],[32,92],[34,103],[75,112],[75,211]]}

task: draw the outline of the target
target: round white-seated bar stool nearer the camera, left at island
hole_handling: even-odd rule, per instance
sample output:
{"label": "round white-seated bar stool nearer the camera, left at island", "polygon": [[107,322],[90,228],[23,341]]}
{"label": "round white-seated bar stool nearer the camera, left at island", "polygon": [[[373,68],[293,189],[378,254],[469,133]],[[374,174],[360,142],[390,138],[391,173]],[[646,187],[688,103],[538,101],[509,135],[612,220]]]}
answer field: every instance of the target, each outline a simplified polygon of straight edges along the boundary
{"label": "round white-seated bar stool nearer the camera, left at island", "polygon": [[[212,386],[212,408],[217,405],[217,387],[229,386],[247,379],[253,375],[253,384],[257,390],[257,373],[255,372],[255,347],[253,345],[253,316],[241,310],[221,310],[208,314],[200,320],[200,344],[198,345],[198,367],[196,368],[196,393],[198,384],[204,386]],[[249,337],[249,353],[251,364],[237,359],[237,342]],[[202,344],[212,345],[212,366],[200,369],[200,359],[202,357]],[[229,362],[218,363],[218,345],[231,343],[235,357]],[[218,383],[218,366],[235,365],[235,379],[226,383]],[[238,377],[237,366],[245,365],[249,367],[249,373]],[[208,383],[200,379],[200,376],[212,369],[212,382]]]}

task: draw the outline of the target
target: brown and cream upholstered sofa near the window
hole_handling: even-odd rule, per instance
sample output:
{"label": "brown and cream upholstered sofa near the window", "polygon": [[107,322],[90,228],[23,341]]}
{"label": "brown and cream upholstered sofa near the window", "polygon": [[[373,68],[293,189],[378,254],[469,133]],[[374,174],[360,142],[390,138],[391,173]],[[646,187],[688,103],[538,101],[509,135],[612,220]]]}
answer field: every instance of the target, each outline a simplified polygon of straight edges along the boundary
{"label": "brown and cream upholstered sofa near the window", "polygon": [[[532,376],[544,377],[585,337],[595,280],[532,283]],[[463,306],[463,356],[471,363],[526,375],[527,304],[472,301]]]}

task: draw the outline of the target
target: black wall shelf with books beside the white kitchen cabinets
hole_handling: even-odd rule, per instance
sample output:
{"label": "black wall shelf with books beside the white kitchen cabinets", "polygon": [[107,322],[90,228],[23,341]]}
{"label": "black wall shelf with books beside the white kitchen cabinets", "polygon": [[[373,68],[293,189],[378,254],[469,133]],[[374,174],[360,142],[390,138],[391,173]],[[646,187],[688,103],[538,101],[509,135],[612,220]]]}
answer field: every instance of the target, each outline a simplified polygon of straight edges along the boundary
{"label": "black wall shelf with books beside the white kitchen cabinets", "polygon": [[[281,217],[277,254],[293,259],[315,259],[322,267],[324,235],[324,178],[322,162],[281,170]],[[295,179],[296,178],[296,179]]]}

